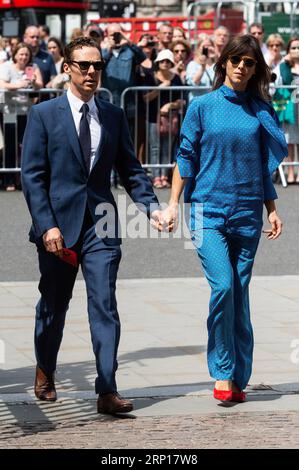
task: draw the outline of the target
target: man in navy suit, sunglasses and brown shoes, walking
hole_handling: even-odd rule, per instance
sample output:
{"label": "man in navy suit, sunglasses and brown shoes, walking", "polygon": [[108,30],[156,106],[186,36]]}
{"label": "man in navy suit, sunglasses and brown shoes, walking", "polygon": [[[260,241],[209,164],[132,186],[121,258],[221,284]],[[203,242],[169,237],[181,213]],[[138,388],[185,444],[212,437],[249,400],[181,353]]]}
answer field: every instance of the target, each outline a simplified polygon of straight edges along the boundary
{"label": "man in navy suit, sunglasses and brown shoes, walking", "polygon": [[[94,98],[103,65],[93,39],[77,38],[66,46],[64,71],[70,88],[31,109],[23,141],[22,186],[32,217],[30,241],[37,245],[41,272],[35,394],[40,400],[56,400],[54,372],[78,272],[64,260],[67,248],[76,253],[86,282],[98,412],[114,414],[129,412],[133,405],[117,393],[115,381],[120,336],[115,284],[121,240],[110,191],[112,167],[157,228],[160,212],[134,155],[123,111]],[[101,237],[95,230],[101,217],[96,208],[109,203],[115,209],[115,233]]]}

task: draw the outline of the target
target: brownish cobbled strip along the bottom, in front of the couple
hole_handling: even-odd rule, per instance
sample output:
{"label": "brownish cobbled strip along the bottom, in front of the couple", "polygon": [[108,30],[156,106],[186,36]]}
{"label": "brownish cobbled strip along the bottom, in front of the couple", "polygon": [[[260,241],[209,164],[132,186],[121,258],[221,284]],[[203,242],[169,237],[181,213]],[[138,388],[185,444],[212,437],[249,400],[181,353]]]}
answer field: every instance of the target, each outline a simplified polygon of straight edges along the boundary
{"label": "brownish cobbled strip along the bottom, in front of the couple", "polygon": [[0,448],[299,448],[299,412],[228,413],[2,425]]}

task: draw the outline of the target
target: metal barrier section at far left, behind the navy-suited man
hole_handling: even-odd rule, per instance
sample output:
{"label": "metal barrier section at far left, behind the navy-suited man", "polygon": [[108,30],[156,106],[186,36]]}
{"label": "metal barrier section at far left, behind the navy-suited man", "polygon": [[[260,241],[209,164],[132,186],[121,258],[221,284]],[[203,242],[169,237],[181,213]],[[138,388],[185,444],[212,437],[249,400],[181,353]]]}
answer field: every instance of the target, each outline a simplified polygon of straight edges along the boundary
{"label": "metal barrier section at far left, behind the navy-suited man", "polygon": [[[19,89],[8,91],[0,89],[0,173],[19,173],[21,171],[21,143],[26,127],[27,116],[32,105],[55,98],[65,90],[42,88],[40,90]],[[112,93],[100,88],[101,96],[112,102]],[[107,96],[103,96],[107,95]]]}

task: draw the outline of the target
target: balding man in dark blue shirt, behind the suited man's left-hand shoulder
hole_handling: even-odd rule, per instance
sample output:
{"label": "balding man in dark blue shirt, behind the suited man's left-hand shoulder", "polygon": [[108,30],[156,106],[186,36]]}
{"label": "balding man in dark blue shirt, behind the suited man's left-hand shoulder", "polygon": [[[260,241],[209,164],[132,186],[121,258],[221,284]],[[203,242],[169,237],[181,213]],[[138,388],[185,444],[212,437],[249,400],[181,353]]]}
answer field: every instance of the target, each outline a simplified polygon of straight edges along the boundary
{"label": "balding man in dark blue shirt, behind the suited man's left-hand shoulder", "polygon": [[45,87],[57,73],[51,54],[40,49],[40,31],[36,26],[27,26],[24,33],[24,42],[31,46],[33,62],[38,65],[41,71]]}

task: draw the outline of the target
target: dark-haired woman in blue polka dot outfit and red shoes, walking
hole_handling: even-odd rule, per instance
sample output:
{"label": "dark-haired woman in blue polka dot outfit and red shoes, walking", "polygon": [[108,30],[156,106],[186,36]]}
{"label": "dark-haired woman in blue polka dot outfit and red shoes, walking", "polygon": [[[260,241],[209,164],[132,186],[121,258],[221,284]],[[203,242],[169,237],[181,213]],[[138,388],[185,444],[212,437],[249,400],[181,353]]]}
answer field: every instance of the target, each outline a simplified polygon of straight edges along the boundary
{"label": "dark-haired woman in blue polka dot outfit and red shoes, walking", "polygon": [[216,380],[214,397],[221,401],[245,401],[251,375],[248,287],[263,204],[271,224],[268,239],[282,230],[271,174],[286,157],[287,145],[269,104],[269,81],[256,39],[233,38],[215,65],[213,91],[187,110],[163,213],[165,229],[173,230],[185,187],[192,239],[211,286],[208,366]]}

